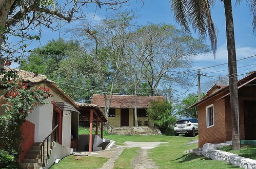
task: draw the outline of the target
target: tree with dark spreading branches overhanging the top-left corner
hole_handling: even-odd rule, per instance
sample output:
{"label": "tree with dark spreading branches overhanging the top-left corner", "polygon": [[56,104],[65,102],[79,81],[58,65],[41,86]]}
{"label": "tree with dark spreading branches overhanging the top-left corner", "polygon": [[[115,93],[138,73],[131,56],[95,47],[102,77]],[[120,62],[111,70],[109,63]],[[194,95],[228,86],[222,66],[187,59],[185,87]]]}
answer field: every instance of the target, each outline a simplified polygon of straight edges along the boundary
{"label": "tree with dark spreading branches overhanging the top-left corner", "polygon": [[[101,8],[120,8],[129,0],[1,0],[0,1],[0,71],[3,71],[6,60],[18,61],[16,53],[22,54],[27,40],[40,39],[41,26],[56,30],[57,20],[72,22],[85,18],[83,7],[96,4]],[[38,30],[37,35],[31,35],[28,30]],[[34,33],[34,32],[33,32]],[[9,36],[21,37],[17,44],[8,41]],[[21,45],[19,45],[21,44]]]}

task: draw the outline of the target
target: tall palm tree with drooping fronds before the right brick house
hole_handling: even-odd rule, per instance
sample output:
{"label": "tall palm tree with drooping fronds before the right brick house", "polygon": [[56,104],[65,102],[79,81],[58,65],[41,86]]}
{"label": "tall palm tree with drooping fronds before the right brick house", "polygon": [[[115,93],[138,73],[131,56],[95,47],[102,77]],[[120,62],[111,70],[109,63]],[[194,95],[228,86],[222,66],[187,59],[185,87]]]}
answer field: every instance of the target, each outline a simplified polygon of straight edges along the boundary
{"label": "tall palm tree with drooping fronds before the right brick house", "polygon": [[[234,26],[231,0],[221,0],[224,2],[226,18],[226,36],[228,51],[228,73],[229,73],[229,91],[232,117],[232,148],[240,149],[239,121],[238,121],[238,74],[237,74],[237,56],[235,55]],[[241,0],[236,0],[240,3]],[[215,0],[170,0],[171,8],[175,19],[187,31],[190,32],[189,24],[194,30],[198,30],[203,37],[208,36],[211,41],[211,48],[215,57],[217,49],[217,38],[215,27],[211,18],[211,8]],[[253,32],[256,32],[256,1],[247,0],[250,4],[251,14],[253,15]]]}

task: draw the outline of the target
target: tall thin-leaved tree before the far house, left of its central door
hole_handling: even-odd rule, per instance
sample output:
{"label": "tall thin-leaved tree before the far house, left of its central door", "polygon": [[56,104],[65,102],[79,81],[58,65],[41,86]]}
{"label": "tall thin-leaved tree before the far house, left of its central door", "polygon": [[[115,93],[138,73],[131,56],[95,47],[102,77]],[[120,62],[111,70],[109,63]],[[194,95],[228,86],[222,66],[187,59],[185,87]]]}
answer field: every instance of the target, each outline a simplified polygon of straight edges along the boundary
{"label": "tall thin-leaved tree before the far house, left of its central door", "polygon": [[[88,61],[99,77],[105,98],[104,113],[108,117],[112,94],[122,79],[124,69],[125,47],[131,38],[127,34],[132,16],[129,12],[117,12],[99,23],[84,23],[75,29],[82,39],[84,49],[89,55]],[[109,97],[107,97],[109,95]]]}

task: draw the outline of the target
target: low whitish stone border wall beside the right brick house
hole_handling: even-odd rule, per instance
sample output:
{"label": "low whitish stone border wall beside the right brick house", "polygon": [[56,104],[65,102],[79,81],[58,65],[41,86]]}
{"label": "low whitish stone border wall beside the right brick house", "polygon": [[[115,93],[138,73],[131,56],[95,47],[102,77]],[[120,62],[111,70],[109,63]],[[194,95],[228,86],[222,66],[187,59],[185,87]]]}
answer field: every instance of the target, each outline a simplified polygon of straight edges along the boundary
{"label": "low whitish stone border wall beside the right brick house", "polygon": [[229,162],[232,165],[239,166],[242,168],[256,168],[256,160],[241,157],[237,154],[232,154],[228,152],[224,152],[221,150],[216,150],[216,148],[231,145],[231,143],[220,143],[220,144],[204,144],[202,149],[198,149],[195,151],[195,154],[202,154],[205,157],[208,157],[212,160],[220,160]]}

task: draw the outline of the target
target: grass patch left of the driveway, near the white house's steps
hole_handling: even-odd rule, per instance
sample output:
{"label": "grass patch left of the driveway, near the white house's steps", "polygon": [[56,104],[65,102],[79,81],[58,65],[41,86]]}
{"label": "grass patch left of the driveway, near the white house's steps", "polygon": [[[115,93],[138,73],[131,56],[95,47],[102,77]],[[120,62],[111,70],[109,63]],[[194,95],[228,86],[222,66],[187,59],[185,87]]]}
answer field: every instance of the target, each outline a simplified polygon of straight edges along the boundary
{"label": "grass patch left of the driveway, near the white house's steps", "polygon": [[103,157],[78,157],[78,156],[68,156],[61,160],[61,162],[52,165],[51,169],[66,169],[66,168],[100,168],[105,162],[108,161],[108,158]]}

